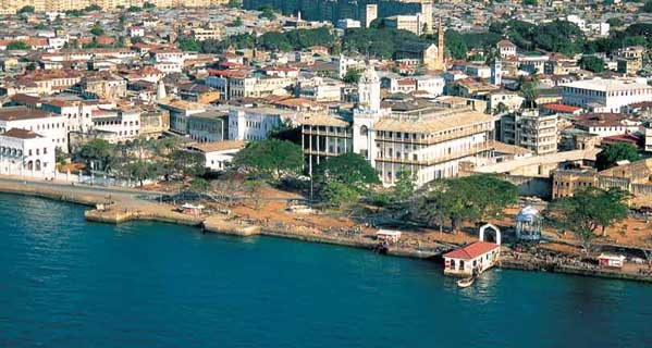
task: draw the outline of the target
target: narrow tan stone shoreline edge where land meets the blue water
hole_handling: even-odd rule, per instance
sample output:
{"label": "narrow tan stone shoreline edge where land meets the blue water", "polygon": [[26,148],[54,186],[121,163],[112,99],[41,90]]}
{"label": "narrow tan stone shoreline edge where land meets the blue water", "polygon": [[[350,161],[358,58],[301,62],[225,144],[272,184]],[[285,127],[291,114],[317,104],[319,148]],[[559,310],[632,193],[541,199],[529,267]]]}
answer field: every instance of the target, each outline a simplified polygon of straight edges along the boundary
{"label": "narrow tan stone shoreline edge where land meets the blue water", "polygon": [[[32,183],[32,182],[27,182]],[[38,197],[60,202],[74,203],[88,208],[93,208],[90,210],[84,211],[84,217],[87,221],[99,222],[99,223],[109,223],[109,224],[120,224],[126,222],[134,221],[151,221],[159,223],[170,223],[177,225],[186,225],[186,226],[195,226],[200,228],[202,232],[207,233],[216,233],[222,235],[232,235],[239,237],[247,236],[267,236],[274,238],[285,238],[285,239],[294,239],[306,243],[320,243],[320,244],[329,244],[336,245],[342,247],[349,247],[356,249],[365,249],[368,251],[372,251],[373,247],[377,245],[376,240],[371,240],[369,238],[356,236],[356,237],[342,237],[336,234],[327,234],[327,233],[307,233],[307,232],[293,232],[290,228],[285,228],[284,226],[261,226],[251,223],[244,223],[243,221],[230,221],[226,217],[220,216],[219,214],[200,217],[200,216],[192,216],[179,212],[172,211],[162,211],[159,204],[153,204],[153,207],[158,207],[158,209],[147,209],[140,210],[134,207],[140,208],[145,202],[140,202],[135,204],[134,207],[125,207],[125,204],[116,203],[107,210],[98,210],[97,206],[102,204],[106,200],[106,195],[98,190],[97,192],[86,192],[86,194],[70,194],[65,192],[63,188],[66,186],[61,185],[61,187],[49,187],[48,189],[42,187],[35,187],[34,185],[28,185],[24,183],[13,183],[12,185],[1,184],[0,183],[0,192],[1,194],[10,194],[17,196],[27,196],[27,197]],[[93,187],[76,187],[81,189],[91,190]],[[130,192],[126,191],[125,192]],[[138,194],[138,191],[131,192],[133,195]],[[152,206],[152,203],[148,203]],[[441,257],[442,253],[446,252],[446,249],[443,245],[441,248],[414,248],[414,247],[391,247],[387,250],[389,256],[394,257],[403,257],[403,258],[411,258],[411,259],[421,259],[421,260],[432,260]],[[644,282],[652,283],[651,275],[644,274],[632,274],[627,272],[618,272],[615,270],[605,270],[605,269],[580,269],[574,268],[569,265],[542,265],[536,264],[531,261],[525,260],[515,260],[514,258],[503,258],[501,260],[501,264],[496,265],[501,269],[509,269],[509,270],[520,270],[520,271],[530,271],[530,272],[552,272],[552,273],[562,273],[562,274],[570,274],[570,275],[581,275],[581,276],[591,276],[591,277],[602,277],[602,278],[612,278],[612,279],[626,279],[626,281],[636,281],[636,282]]]}

